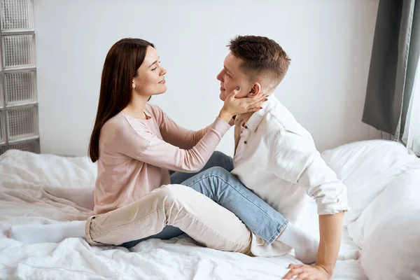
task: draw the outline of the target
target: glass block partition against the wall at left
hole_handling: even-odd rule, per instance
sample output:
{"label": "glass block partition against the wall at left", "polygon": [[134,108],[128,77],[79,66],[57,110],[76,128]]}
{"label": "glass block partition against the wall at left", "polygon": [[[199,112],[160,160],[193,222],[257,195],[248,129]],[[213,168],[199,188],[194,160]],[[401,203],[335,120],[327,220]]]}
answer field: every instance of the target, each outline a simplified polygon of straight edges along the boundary
{"label": "glass block partition against the wall at left", "polygon": [[0,0],[0,154],[40,153],[33,0]]}

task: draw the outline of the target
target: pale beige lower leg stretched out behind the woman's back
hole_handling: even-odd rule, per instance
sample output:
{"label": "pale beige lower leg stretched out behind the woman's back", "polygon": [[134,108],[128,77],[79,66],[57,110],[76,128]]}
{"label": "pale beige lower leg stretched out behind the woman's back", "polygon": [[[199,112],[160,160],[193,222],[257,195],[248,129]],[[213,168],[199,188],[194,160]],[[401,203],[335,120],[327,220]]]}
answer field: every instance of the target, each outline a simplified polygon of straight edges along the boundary
{"label": "pale beige lower leg stretched out behind the woman's back", "polygon": [[64,198],[78,204],[85,209],[93,210],[94,207],[94,188],[61,188],[43,186],[45,192],[55,197]]}

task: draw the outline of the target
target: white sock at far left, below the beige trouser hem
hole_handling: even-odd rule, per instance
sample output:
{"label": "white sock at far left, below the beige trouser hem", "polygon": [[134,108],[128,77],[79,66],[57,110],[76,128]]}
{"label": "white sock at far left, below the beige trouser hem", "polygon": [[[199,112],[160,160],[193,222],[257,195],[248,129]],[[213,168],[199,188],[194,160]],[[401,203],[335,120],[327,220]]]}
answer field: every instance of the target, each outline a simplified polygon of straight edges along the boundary
{"label": "white sock at far left, below the beige trouser hem", "polygon": [[86,221],[51,223],[48,225],[15,225],[10,237],[27,244],[59,243],[66,238],[85,237]]}

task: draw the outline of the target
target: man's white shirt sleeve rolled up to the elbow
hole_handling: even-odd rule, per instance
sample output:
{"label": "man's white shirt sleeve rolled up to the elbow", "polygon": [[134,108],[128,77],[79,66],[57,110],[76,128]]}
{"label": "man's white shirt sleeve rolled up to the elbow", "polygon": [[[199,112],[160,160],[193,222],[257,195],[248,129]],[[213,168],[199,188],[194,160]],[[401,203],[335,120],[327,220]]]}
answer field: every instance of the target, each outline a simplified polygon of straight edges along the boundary
{"label": "man's white shirt sleeve rolled up to the elbow", "polygon": [[316,151],[314,141],[283,129],[272,146],[274,174],[306,190],[318,207],[318,215],[349,210],[346,186]]}

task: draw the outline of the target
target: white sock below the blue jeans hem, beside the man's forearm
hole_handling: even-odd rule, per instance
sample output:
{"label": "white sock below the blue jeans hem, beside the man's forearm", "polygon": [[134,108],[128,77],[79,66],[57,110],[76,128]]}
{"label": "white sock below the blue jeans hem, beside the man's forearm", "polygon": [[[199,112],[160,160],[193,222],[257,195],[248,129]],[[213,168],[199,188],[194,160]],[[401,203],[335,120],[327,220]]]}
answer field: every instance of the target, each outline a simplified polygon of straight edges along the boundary
{"label": "white sock below the blue jeans hem, beside the man's forearm", "polygon": [[277,240],[294,248],[297,260],[306,264],[316,261],[319,242],[292,223],[288,223],[286,230]]}

